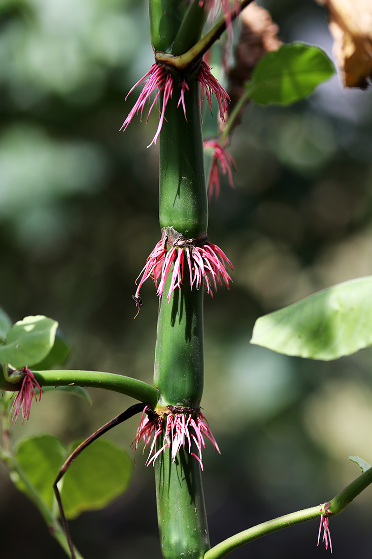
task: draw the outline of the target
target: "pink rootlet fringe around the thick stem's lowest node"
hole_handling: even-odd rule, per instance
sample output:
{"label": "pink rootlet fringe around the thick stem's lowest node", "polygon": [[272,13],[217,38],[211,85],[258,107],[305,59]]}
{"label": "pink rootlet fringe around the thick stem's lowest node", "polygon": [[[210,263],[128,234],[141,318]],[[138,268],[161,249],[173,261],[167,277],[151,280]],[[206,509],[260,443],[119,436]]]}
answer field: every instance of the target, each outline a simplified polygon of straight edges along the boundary
{"label": "pink rootlet fringe around the thick stem's lowest node", "polygon": [[[175,408],[168,406],[169,411],[162,415],[158,415],[152,411],[150,406],[146,406],[142,412],[139,428],[137,429],[136,438],[132,442],[132,447],[136,450],[141,440],[144,440],[145,446],[142,454],[147,446],[150,447],[149,456],[146,460],[146,466],[154,464],[159,454],[168,449],[171,453],[172,462],[175,461],[180,448],[185,448],[192,456],[194,456],[203,470],[202,449],[206,447],[204,437],[209,439],[221,454],[218,444],[209,429],[208,421],[200,410],[197,410],[197,416],[194,419],[195,410],[190,408]],[[163,433],[161,447],[157,448],[158,437]],[[152,443],[150,446],[150,439]],[[197,454],[192,452],[192,443],[195,443]]]}

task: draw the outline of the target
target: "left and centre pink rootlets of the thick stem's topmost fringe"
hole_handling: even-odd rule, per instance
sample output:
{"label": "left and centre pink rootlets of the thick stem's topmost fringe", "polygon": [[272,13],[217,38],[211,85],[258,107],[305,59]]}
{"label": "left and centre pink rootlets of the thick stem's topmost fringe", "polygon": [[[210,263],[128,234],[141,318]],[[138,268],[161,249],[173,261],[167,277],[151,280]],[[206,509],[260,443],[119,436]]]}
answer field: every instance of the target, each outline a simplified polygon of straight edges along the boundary
{"label": "left and centre pink rootlets of the thick stem's topmost fringe", "polygon": [[[147,78],[147,80],[146,80]],[[159,125],[158,125],[158,130],[156,130],[156,134],[154,136],[154,138],[152,139],[151,144],[149,144],[147,146],[147,148],[150,147],[150,145],[152,144],[156,144],[156,140],[158,140],[159,138],[159,134],[160,134],[160,130],[161,127],[163,126],[163,122],[164,122],[164,114],[165,114],[165,109],[166,109],[166,105],[169,101],[169,99],[171,98],[172,94],[173,94],[173,86],[174,86],[174,81],[173,81],[173,76],[170,74],[170,72],[168,70],[166,70],[166,68],[164,68],[164,66],[161,66],[160,64],[152,64],[149,72],[147,72],[147,74],[144,75],[143,78],[141,78],[139,80],[139,82],[137,82],[132,89],[130,90],[130,92],[128,93],[128,95],[126,96],[126,100],[128,98],[128,96],[132,93],[133,89],[135,89],[137,86],[140,85],[140,83],[144,82],[144,80],[146,80],[144,88],[142,89],[139,98],[137,99],[134,107],[132,108],[132,110],[130,111],[130,113],[128,114],[127,118],[125,119],[125,121],[123,122],[123,125],[121,127],[120,130],[126,130],[128,125],[130,124],[131,120],[133,119],[133,116],[138,115],[138,113],[141,111],[141,121],[142,121],[142,115],[144,112],[144,107],[146,105],[146,102],[149,103],[149,112],[147,113],[147,119],[146,122],[149,120],[149,116],[151,114],[152,109],[154,108],[155,105],[158,104],[158,99],[160,96],[160,93],[164,91],[164,95],[163,95],[163,106],[161,108],[161,113],[160,113],[160,119],[159,119]],[[179,101],[178,101],[178,107],[180,104],[182,104],[183,107],[183,112],[186,118],[186,108],[185,108],[185,90],[188,90],[189,87],[185,81],[185,79],[182,79],[180,82],[180,97],[179,97]],[[155,98],[154,101],[152,101],[152,104],[150,106],[150,97],[152,95],[152,93],[154,93],[156,91],[155,94]]]}

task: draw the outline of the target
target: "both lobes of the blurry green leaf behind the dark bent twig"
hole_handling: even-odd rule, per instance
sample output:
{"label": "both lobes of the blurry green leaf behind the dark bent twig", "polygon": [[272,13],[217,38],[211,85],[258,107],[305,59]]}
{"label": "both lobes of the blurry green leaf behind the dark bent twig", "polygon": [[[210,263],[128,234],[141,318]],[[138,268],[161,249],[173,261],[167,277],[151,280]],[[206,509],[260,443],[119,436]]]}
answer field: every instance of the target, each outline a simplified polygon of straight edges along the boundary
{"label": "both lobes of the blurry green leaf behind the dark bent twig", "polygon": [[[55,510],[53,484],[71,448],[51,434],[41,434],[21,440],[16,459],[30,483],[39,492],[47,507]],[[133,462],[128,453],[110,440],[98,439],[73,462],[61,480],[61,499],[66,518],[76,518],[85,510],[97,510],[109,505],[126,491],[130,484]],[[15,478],[21,491],[31,499],[27,487]]]}

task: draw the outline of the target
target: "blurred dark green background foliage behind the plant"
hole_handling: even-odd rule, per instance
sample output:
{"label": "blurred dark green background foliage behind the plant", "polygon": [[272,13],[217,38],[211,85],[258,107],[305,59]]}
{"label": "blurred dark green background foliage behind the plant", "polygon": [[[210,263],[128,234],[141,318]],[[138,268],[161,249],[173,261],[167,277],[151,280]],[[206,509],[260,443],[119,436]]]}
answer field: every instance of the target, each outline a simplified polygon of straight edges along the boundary
{"label": "blurred dark green background foliage behind the plant", "polygon": [[[283,41],[332,55],[325,12],[311,0],[268,0]],[[237,34],[237,30],[236,30]],[[2,0],[0,3],[0,304],[13,320],[59,321],[71,368],[151,382],[158,301],[135,278],[159,240],[158,149],[147,126],[118,130],[152,64],[142,0]],[[214,70],[219,69],[214,63]],[[288,108],[251,106],[233,136],[235,190],[211,203],[209,238],[235,265],[230,292],[206,297],[202,401],[222,455],[207,448],[211,543],[332,498],[372,461],[371,350],[335,362],[289,358],[249,345],[265,312],[372,273],[372,109],[369,91],[337,77]],[[93,407],[45,394],[17,437],[85,437],[130,405],[91,391]],[[137,419],[108,437],[128,447]],[[151,467],[137,453],[130,490],[71,523],[91,559],[160,558]],[[64,557],[39,513],[0,465],[4,557]],[[331,519],[338,557],[370,549],[366,490]],[[314,557],[318,525],[299,525],[233,556]],[[329,553],[329,551],[328,551]]]}

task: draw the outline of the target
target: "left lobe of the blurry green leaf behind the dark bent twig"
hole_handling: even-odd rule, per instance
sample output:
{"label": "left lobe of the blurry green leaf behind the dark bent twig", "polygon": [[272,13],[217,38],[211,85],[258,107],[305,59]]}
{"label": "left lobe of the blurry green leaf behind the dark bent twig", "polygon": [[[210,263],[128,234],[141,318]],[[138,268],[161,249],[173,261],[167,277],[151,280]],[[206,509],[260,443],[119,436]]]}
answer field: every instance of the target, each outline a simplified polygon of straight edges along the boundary
{"label": "left lobe of the blurry green leaf behind the dark bent twig", "polygon": [[[64,443],[55,435],[36,435],[23,439],[17,444],[16,459],[50,510],[53,509],[54,503],[54,480],[65,457]],[[21,480],[18,479],[16,485],[32,499]]]}

